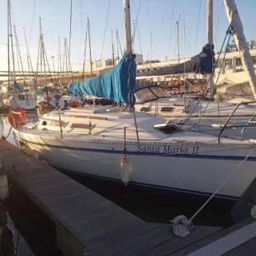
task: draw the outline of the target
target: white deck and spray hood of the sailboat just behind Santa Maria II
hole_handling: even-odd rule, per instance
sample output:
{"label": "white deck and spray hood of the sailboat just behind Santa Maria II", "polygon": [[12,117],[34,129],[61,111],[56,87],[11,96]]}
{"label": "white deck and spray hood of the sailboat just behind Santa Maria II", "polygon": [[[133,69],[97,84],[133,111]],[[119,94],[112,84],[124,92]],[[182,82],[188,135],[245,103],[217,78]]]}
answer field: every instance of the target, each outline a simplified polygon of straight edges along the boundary
{"label": "white deck and spray hood of the sailboat just behind Santa Maria II", "polygon": [[[173,121],[187,130],[196,130],[210,135],[219,135],[225,121],[237,103],[206,102],[190,98],[186,104],[183,97],[170,97],[159,86],[147,86],[135,91],[135,110],[150,116],[160,116]],[[248,102],[248,100],[246,101]],[[241,105],[232,115],[223,135],[235,138],[256,139],[256,102]]]}

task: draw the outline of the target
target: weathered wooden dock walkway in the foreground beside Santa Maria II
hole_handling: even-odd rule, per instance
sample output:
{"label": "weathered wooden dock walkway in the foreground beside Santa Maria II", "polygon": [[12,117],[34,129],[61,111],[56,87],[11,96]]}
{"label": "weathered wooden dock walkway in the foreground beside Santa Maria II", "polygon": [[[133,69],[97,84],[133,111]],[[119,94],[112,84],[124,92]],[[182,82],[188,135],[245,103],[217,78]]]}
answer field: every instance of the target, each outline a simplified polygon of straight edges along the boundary
{"label": "weathered wooden dock walkway in the foreground beside Santa Maria II", "polygon": [[12,186],[55,222],[64,255],[169,255],[220,230],[196,226],[191,235],[178,238],[171,225],[140,220],[5,140],[0,140],[0,154]]}

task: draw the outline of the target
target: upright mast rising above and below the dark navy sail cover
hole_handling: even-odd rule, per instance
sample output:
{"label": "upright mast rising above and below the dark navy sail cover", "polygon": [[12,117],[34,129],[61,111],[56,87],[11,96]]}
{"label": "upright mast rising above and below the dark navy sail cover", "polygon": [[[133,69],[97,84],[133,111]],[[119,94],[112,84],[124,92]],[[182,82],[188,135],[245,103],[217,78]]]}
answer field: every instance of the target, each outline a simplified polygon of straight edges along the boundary
{"label": "upright mast rising above and below the dark navy sail cover", "polygon": [[[213,2],[206,0],[206,40],[207,45],[213,45]],[[212,70],[214,72],[214,70]],[[214,90],[213,73],[207,74],[207,97],[212,96]]]}

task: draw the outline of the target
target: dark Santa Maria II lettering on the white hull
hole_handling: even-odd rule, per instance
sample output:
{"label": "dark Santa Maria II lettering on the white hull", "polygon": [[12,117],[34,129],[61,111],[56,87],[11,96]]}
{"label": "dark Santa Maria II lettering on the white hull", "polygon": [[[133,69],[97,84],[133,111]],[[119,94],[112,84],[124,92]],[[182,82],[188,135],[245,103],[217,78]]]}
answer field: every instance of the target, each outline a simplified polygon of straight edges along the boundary
{"label": "dark Santa Maria II lettering on the white hull", "polygon": [[186,147],[186,146],[149,146],[138,145],[137,152],[150,153],[150,154],[192,154],[196,155],[198,152],[198,146]]}

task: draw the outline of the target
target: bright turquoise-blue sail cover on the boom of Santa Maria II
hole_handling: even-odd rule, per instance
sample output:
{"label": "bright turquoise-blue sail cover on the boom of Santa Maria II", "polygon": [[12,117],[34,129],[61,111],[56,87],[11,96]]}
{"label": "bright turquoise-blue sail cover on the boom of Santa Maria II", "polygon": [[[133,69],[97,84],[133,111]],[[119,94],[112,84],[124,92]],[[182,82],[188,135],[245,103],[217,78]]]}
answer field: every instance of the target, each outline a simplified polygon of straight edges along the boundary
{"label": "bright turquoise-blue sail cover on the boom of Santa Maria II", "polygon": [[135,55],[126,54],[111,71],[101,73],[94,78],[70,83],[68,90],[73,95],[104,97],[133,107],[135,78]]}

